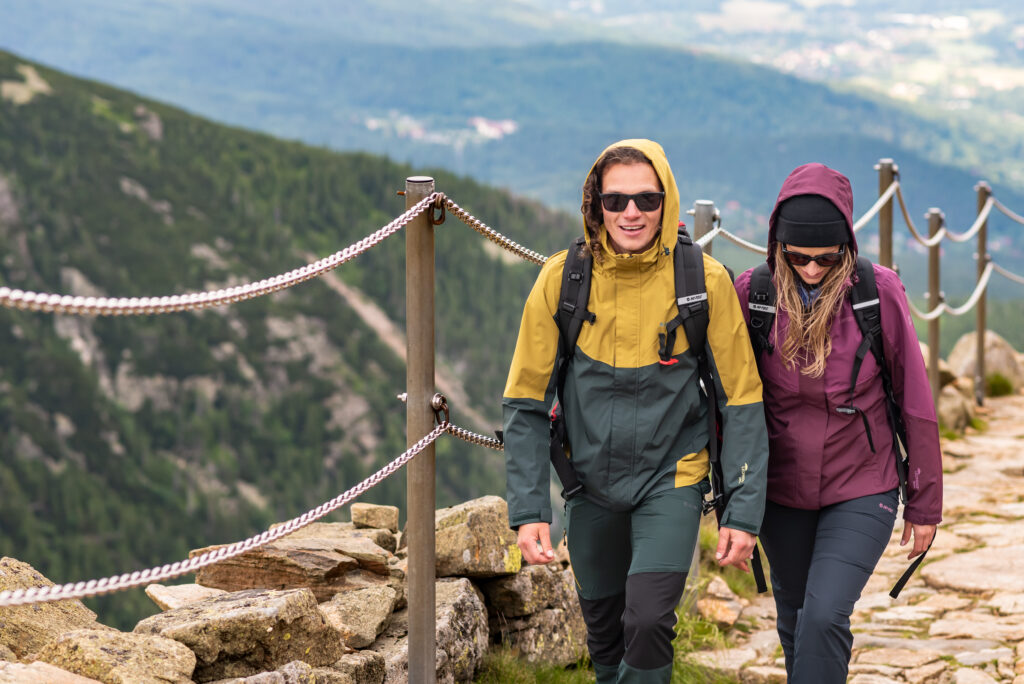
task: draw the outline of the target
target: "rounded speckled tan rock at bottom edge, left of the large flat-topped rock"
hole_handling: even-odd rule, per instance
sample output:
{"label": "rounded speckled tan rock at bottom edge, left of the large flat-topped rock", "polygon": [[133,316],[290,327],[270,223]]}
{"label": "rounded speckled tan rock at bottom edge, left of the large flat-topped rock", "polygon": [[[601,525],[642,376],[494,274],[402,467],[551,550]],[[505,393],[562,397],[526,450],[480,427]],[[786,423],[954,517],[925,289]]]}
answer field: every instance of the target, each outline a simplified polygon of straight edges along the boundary
{"label": "rounded speckled tan rock at bottom edge, left of the large flat-topped rock", "polygon": [[196,655],[160,636],[75,630],[37,656],[61,670],[104,684],[191,684]]}

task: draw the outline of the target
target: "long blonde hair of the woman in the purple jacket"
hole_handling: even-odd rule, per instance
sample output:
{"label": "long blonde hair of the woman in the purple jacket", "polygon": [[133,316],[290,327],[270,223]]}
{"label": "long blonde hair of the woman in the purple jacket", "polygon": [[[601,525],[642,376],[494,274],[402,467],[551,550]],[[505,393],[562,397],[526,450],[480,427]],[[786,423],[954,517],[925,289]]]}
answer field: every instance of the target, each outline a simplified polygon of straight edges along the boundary
{"label": "long blonde hair of the woman in the purple jacket", "polygon": [[[785,340],[778,345],[778,350],[787,369],[800,367],[800,373],[811,378],[820,378],[824,374],[825,359],[831,353],[828,330],[846,298],[847,283],[853,275],[856,258],[847,245],[843,260],[821,279],[821,290],[807,307],[797,290],[800,287],[797,274],[782,254],[782,244],[775,244],[775,305],[790,315]],[[778,316],[775,317],[775,335],[778,339]]]}

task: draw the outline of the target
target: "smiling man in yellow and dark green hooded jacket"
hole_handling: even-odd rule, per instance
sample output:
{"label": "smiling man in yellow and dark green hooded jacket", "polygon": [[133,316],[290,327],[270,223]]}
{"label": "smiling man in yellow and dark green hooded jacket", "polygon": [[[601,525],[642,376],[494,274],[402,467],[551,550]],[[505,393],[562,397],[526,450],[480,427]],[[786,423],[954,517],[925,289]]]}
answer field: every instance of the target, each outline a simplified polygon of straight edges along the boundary
{"label": "smiling man in yellow and dark green hooded jacket", "polygon": [[[669,682],[679,603],[708,491],[708,403],[685,335],[659,358],[678,313],[673,250],[679,191],[660,145],[623,140],[584,184],[593,255],[590,300],[561,405],[584,484],[567,503],[568,547],[599,683]],[[566,253],[541,270],[523,309],[505,387],[509,522],[529,563],[553,559],[549,419]],[[717,361],[728,503],[717,557],[742,566],[764,503],[767,434],[761,383],[725,268],[703,256],[707,351]]]}

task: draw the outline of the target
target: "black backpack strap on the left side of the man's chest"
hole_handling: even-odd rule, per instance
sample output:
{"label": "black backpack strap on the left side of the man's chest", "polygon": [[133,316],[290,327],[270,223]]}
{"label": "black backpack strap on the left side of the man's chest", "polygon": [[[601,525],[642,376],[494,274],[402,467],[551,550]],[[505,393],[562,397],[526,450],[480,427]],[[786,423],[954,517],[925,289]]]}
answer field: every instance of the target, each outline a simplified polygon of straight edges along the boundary
{"label": "black backpack strap on the left side of the man's chest", "polygon": [[577,341],[584,322],[593,324],[596,316],[587,309],[590,301],[590,276],[593,265],[593,255],[582,236],[572,241],[565,254],[565,264],[562,266],[562,287],[558,297],[558,309],[555,311],[555,324],[558,326],[558,357],[556,364],[555,405],[551,411],[551,437],[549,443],[551,465],[562,483],[562,498],[568,501],[583,489],[583,483],[569,461],[568,432],[565,419],[559,410],[562,393],[565,391],[565,375],[568,372],[569,359],[575,350]]}

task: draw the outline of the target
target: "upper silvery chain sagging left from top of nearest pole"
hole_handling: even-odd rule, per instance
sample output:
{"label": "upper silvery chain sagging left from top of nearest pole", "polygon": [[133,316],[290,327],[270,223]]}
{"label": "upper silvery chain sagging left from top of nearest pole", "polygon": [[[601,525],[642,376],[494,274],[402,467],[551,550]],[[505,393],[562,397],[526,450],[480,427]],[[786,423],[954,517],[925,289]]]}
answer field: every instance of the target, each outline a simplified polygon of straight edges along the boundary
{"label": "upper silvery chain sagging left from top of nearest pole", "polygon": [[329,257],[311,264],[290,270],[281,275],[236,286],[212,292],[197,292],[187,295],[172,295],[170,297],[73,297],[71,295],[45,294],[0,288],[0,306],[9,308],[46,311],[55,313],[74,313],[79,315],[139,315],[143,313],[170,313],[172,311],[190,311],[211,306],[233,304],[246,299],[290,288],[311,277],[316,277],[333,270],[394,234],[414,218],[430,209],[440,193],[434,193],[407,210],[393,221],[373,232],[357,243],[335,252]]}

